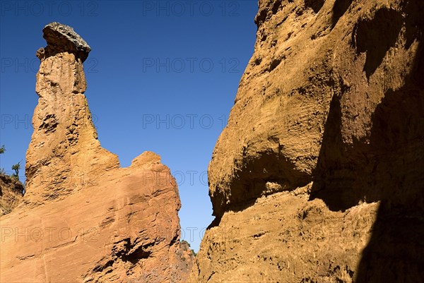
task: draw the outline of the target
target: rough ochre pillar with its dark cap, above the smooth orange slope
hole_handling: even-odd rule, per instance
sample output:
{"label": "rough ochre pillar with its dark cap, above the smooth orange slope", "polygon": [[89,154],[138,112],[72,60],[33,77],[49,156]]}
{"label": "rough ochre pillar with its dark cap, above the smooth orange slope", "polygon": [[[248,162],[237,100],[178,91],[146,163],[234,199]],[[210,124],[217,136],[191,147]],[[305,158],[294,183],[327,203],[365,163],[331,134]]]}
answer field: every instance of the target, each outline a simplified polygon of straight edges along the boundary
{"label": "rough ochre pillar with its dark cap, above the smooth orange slope", "polygon": [[[72,28],[50,23],[39,49],[39,98],[26,156],[28,205],[61,200],[119,168],[117,155],[100,146],[85,95],[83,59],[90,47]],[[79,52],[79,53],[78,53]]]}

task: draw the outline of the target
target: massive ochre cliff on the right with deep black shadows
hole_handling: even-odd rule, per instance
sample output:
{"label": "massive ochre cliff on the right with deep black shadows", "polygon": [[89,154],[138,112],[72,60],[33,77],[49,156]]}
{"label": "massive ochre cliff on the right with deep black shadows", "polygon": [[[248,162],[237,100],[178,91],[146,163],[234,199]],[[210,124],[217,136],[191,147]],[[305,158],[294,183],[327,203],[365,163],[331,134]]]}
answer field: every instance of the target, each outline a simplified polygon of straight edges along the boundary
{"label": "massive ochre cliff on the right with deep black shadows", "polygon": [[190,282],[418,282],[423,3],[261,0]]}

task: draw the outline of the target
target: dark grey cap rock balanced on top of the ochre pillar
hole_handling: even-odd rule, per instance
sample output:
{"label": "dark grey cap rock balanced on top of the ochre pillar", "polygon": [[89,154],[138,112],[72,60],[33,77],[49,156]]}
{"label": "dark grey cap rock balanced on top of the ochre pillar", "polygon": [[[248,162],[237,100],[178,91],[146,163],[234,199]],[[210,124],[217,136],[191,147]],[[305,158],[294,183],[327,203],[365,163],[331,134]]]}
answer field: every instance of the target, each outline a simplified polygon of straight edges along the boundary
{"label": "dark grey cap rock balanced on top of the ochre pillar", "polygon": [[47,42],[44,50],[37,51],[37,57],[41,59],[54,56],[60,52],[75,54],[76,58],[86,61],[90,46],[69,25],[61,23],[49,23],[42,29],[43,36]]}

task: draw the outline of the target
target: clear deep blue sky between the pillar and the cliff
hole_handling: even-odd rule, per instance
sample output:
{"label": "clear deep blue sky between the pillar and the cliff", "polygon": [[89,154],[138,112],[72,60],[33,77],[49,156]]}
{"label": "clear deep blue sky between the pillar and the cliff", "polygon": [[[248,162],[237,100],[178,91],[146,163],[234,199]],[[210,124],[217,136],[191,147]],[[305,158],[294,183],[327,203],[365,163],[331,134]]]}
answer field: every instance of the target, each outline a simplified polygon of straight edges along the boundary
{"label": "clear deep blue sky between the pillar and the cliff", "polygon": [[[88,42],[86,97],[122,167],[150,150],[179,184],[184,239],[211,223],[207,167],[253,54],[257,1],[0,1],[0,168],[23,160],[37,94],[35,52],[58,21]],[[24,171],[20,171],[24,181]]]}

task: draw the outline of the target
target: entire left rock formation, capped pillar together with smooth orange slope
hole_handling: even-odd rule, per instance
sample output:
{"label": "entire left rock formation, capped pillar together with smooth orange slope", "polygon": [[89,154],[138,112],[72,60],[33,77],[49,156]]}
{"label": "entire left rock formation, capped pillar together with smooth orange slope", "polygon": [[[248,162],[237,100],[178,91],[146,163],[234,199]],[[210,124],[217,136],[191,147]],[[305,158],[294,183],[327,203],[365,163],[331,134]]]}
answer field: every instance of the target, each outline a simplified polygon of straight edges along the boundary
{"label": "entire left rock formation, capped pillar together with smooth orange slope", "polygon": [[0,281],[184,281],[193,255],[179,241],[170,169],[153,152],[120,168],[83,94],[90,47],[66,25],[43,32],[26,194],[1,217]]}

